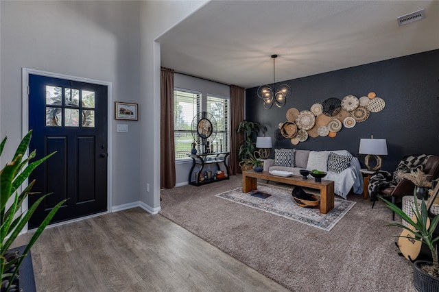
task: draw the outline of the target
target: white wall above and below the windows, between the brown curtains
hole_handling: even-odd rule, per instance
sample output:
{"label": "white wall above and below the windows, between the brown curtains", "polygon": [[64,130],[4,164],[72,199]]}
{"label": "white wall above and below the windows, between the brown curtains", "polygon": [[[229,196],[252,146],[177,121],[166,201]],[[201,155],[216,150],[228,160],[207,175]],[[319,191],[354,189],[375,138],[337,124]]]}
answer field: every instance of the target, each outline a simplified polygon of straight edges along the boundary
{"label": "white wall above and below the windows, between the brown curtains", "polygon": [[[178,73],[174,75],[174,86],[183,89],[200,91],[203,97],[206,97],[207,95],[230,97],[230,86]],[[178,160],[176,162],[176,186],[182,186],[189,183],[188,178],[191,167],[191,158],[184,161]]]}

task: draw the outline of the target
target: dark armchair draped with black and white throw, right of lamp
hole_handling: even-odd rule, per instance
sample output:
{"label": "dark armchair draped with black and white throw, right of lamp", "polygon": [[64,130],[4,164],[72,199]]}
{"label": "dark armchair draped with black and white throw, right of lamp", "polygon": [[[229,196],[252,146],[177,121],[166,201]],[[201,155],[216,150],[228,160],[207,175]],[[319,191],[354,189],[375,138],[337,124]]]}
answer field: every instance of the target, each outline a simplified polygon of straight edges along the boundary
{"label": "dark armchair draped with black and white throw, right of lamp", "polygon": [[[395,204],[396,199],[401,199],[405,195],[413,195],[415,185],[410,180],[399,180],[396,178],[398,172],[408,172],[413,169],[420,169],[425,174],[430,175],[429,180],[436,180],[439,177],[439,156],[405,156],[393,173],[377,171],[370,178],[369,193],[373,201],[372,208],[375,206],[376,197],[382,196],[392,199]],[[392,219],[395,219],[394,213]]]}

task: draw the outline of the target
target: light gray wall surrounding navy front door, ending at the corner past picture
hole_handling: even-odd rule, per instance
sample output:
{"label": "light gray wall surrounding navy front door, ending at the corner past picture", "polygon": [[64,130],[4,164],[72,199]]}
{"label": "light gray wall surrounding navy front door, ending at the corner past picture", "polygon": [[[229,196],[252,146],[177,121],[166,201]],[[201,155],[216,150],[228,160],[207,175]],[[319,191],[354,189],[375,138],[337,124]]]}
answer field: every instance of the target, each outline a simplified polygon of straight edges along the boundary
{"label": "light gray wall surrounding navy front door, ending at the corner past picture", "polygon": [[[0,135],[8,135],[2,165],[21,141],[22,67],[112,82],[112,103],[139,102],[139,2],[1,1],[0,5]],[[130,132],[117,133],[114,112],[108,119],[112,205],[137,202],[140,123],[126,121]]]}

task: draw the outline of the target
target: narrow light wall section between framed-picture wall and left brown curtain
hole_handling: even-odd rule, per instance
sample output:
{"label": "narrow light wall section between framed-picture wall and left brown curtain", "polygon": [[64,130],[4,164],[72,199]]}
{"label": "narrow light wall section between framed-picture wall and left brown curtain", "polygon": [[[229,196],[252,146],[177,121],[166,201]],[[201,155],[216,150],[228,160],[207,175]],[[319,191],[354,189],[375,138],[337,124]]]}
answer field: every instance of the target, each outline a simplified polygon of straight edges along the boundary
{"label": "narrow light wall section between framed-picture wall and left brown curtain", "polygon": [[[141,93],[147,106],[141,108],[139,181],[140,200],[160,210],[160,45],[154,42],[207,1],[141,2]],[[150,192],[147,192],[150,184]]]}

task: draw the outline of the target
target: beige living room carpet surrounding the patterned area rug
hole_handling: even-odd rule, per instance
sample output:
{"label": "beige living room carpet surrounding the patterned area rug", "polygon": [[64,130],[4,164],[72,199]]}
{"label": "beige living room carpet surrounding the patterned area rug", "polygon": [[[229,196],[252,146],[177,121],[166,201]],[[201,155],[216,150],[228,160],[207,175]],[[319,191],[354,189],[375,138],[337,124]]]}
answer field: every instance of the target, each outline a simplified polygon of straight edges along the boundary
{"label": "beige living room carpet surrounding the patterned area rug", "polygon": [[348,195],[357,204],[327,232],[215,197],[239,186],[233,175],[162,190],[160,214],[292,291],[415,291],[382,202]]}

